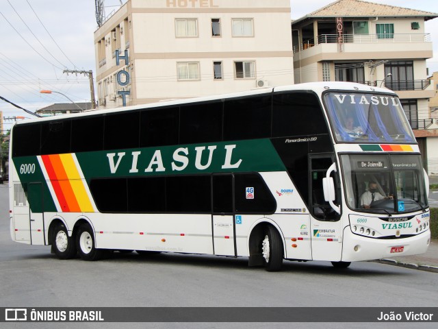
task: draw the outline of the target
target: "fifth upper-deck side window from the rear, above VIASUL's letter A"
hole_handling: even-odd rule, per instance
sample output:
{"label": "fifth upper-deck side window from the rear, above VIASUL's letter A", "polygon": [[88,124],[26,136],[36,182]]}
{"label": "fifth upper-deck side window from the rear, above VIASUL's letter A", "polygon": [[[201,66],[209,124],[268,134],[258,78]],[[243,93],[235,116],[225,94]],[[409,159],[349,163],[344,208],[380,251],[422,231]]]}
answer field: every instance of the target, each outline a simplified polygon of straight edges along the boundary
{"label": "fifth upper-deck side window from the rear, above VIASUL's letter A", "polygon": [[140,115],[140,147],[177,145],[179,108],[144,111]]}

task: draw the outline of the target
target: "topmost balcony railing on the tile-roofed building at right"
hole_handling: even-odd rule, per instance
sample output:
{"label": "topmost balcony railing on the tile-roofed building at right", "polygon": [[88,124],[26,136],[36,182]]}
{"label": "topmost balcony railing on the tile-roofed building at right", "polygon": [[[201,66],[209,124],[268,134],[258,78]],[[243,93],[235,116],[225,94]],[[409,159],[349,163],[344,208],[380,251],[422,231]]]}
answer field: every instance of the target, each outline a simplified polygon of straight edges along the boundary
{"label": "topmost balcony railing on the tile-roofed building at right", "polygon": [[[326,43],[337,43],[337,34],[321,34],[316,38],[307,39],[300,45],[300,50],[311,48],[315,45]],[[423,43],[432,42],[430,34],[344,34],[342,43]],[[294,46],[294,53],[298,51],[298,47]]]}

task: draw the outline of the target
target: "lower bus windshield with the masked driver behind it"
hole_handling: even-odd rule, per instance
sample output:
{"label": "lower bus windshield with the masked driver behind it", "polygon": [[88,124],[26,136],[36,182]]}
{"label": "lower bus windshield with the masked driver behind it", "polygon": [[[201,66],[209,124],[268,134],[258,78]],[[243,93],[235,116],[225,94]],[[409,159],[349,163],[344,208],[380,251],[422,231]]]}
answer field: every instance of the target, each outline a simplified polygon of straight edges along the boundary
{"label": "lower bus windshield with the masked driver behind it", "polygon": [[342,155],[346,201],[353,210],[402,213],[428,207],[420,155]]}

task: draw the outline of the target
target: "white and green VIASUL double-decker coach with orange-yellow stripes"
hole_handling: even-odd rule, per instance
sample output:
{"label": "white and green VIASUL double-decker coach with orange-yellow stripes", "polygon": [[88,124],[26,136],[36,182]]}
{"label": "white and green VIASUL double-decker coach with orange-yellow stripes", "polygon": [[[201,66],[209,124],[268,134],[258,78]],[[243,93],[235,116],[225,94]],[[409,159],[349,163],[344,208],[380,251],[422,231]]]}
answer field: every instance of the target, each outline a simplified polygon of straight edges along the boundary
{"label": "white and green VIASUL double-decker coach with orange-yellow stripes", "polygon": [[110,250],[350,262],[426,252],[426,175],[397,95],[323,82],[20,121],[10,228]]}

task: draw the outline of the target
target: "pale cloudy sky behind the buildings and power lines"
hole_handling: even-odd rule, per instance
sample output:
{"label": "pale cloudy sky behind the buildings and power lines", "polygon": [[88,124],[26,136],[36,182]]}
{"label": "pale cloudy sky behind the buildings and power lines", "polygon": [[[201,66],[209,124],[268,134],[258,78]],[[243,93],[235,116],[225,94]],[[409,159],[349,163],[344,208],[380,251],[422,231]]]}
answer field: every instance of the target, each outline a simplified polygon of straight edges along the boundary
{"label": "pale cloudy sky behind the buildings and power lines", "polygon": [[[291,18],[298,19],[334,1],[291,0]],[[437,0],[371,2],[438,13]],[[110,16],[119,6],[120,0],[105,0],[105,14]],[[96,28],[92,0],[0,0],[0,96],[32,112],[68,99],[90,101],[88,77],[63,71],[92,70],[95,77]],[[426,22],[426,32],[433,40],[434,57],[428,60],[432,73],[438,71],[438,18]],[[41,94],[40,90],[57,91],[66,97]],[[31,117],[1,100],[0,111],[5,118],[3,130],[10,129],[10,118]]]}

